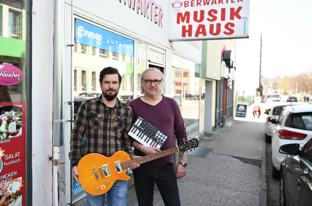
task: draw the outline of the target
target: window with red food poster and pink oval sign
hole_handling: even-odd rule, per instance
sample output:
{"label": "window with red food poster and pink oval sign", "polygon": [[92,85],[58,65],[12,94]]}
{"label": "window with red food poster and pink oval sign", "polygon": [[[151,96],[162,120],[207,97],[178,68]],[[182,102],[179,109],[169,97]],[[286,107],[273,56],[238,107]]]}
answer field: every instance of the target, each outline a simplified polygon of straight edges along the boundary
{"label": "window with red food poster and pink oval sign", "polygon": [[25,205],[27,196],[25,77],[26,1],[0,0],[0,152],[18,154],[0,160],[1,184],[16,194],[14,202],[7,194],[10,205]]}

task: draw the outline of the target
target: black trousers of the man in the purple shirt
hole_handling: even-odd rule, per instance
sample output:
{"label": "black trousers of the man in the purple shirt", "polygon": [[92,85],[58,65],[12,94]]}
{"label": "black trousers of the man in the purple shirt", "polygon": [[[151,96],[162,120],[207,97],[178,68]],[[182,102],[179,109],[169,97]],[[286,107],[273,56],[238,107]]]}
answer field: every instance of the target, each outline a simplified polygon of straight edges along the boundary
{"label": "black trousers of the man in the purple shirt", "polygon": [[165,205],[181,205],[175,169],[172,164],[163,167],[150,167],[141,164],[133,171],[134,186],[139,206],[153,206],[154,183]]}

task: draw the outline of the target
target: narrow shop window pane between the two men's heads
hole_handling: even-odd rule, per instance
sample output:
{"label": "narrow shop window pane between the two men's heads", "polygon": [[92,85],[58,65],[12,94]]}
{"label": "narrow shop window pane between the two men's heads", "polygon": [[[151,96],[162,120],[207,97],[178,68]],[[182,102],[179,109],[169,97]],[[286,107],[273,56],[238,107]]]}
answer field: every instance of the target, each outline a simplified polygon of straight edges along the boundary
{"label": "narrow shop window pane between the two men's heads", "polygon": [[138,43],[138,97],[142,96],[140,92],[141,88],[141,74],[147,68],[147,45],[143,43]]}

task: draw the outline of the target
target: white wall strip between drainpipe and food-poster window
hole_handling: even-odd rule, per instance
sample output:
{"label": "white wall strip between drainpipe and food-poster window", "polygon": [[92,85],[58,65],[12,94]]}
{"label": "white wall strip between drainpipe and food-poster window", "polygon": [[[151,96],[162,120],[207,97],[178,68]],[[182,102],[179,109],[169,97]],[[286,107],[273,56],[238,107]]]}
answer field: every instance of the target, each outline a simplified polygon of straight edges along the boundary
{"label": "white wall strip between drainpipe and food-poster window", "polygon": [[54,2],[32,3],[32,202],[52,205]]}

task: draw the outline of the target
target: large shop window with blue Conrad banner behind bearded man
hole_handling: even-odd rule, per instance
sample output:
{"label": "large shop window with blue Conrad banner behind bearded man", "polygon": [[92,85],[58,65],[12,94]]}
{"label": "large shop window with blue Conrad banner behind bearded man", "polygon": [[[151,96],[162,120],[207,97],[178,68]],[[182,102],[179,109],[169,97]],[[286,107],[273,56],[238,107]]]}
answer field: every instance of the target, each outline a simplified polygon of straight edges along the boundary
{"label": "large shop window with blue Conrad banner behind bearded man", "polygon": [[[97,38],[78,36],[79,26],[97,34]],[[75,39],[77,49],[74,53],[74,96],[91,92],[100,95],[100,71],[105,67],[113,67],[122,76],[118,98],[128,104],[133,99],[134,40],[79,19],[76,19]]]}

